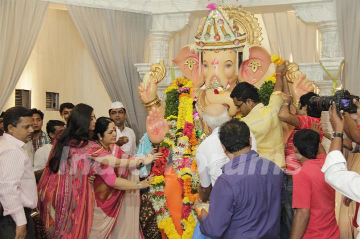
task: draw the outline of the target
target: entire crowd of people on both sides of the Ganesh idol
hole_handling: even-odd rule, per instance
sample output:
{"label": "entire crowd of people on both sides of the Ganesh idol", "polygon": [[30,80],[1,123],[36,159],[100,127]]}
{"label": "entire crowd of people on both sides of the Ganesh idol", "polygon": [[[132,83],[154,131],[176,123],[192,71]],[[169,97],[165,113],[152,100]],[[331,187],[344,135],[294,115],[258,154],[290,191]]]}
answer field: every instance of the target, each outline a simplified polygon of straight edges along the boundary
{"label": "entire crowd of people on both sides of the Ganesh idol", "polygon": [[[359,149],[360,103],[353,101],[358,110],[351,115],[330,106],[329,137],[321,111],[309,105],[314,93],[293,105],[286,70],[277,66],[266,106],[253,85],[235,86],[230,97],[240,120],[229,119],[223,105],[203,113],[211,130],[196,150],[195,205],[209,204],[197,217],[203,237],[338,239],[335,190],[360,202],[360,175],[347,171],[341,152],[342,145]],[[49,120],[46,132],[38,109],[0,115],[0,238],[35,238],[35,217],[50,238],[143,238],[139,190],[154,178],[139,181],[136,170],[161,153],[134,156],[135,134],[125,127],[121,102],[98,119],[86,104],[63,103],[59,113],[63,121]],[[293,129],[286,142],[284,126]],[[323,136],[331,139],[327,155]]]}

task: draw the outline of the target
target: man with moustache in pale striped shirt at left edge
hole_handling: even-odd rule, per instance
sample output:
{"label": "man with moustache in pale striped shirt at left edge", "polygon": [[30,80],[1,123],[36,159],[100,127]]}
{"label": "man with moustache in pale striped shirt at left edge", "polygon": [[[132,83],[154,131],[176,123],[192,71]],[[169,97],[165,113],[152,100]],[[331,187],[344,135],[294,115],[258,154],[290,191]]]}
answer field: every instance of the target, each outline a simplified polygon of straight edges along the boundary
{"label": "man with moustache in pale striped shirt at left edge", "polygon": [[[0,140],[0,238],[34,239],[31,210],[37,205],[32,164],[26,153],[31,140],[32,112],[12,107],[4,114]],[[27,234],[27,235],[26,235]]]}

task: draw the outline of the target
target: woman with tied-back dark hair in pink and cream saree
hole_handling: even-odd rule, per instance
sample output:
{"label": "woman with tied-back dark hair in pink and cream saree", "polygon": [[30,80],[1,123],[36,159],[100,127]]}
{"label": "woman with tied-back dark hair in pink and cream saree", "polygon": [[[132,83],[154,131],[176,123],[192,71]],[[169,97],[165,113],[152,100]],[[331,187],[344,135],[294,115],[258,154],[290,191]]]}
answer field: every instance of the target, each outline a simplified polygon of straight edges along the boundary
{"label": "woman with tied-back dark hair in pink and cream saree", "polygon": [[[93,139],[113,156],[129,157],[115,145],[116,128],[112,119],[97,119]],[[139,189],[149,187],[153,177],[139,182],[136,169],[101,168],[93,183],[95,207],[89,239],[143,239]]]}

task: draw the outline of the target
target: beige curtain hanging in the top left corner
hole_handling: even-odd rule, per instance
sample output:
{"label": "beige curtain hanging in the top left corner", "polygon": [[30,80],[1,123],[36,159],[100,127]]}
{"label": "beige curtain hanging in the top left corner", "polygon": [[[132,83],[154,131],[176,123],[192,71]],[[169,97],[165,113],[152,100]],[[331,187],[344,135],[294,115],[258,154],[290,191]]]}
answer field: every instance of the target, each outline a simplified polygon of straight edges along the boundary
{"label": "beige curtain hanging in the top left corner", "polygon": [[48,2],[0,0],[0,112],[26,65],[43,25]]}

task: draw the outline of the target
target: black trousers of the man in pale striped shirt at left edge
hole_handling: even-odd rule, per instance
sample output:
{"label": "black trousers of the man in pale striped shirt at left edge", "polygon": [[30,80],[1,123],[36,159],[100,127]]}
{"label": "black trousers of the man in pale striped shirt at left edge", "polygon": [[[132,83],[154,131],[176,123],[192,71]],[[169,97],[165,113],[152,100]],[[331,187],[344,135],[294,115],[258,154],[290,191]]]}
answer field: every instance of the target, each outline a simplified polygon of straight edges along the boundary
{"label": "black trousers of the man in pale striped shirt at left edge", "polygon": [[[35,226],[30,216],[31,210],[24,208],[26,216],[26,239],[35,239]],[[14,239],[15,238],[15,222],[10,215],[0,216],[0,239]]]}

